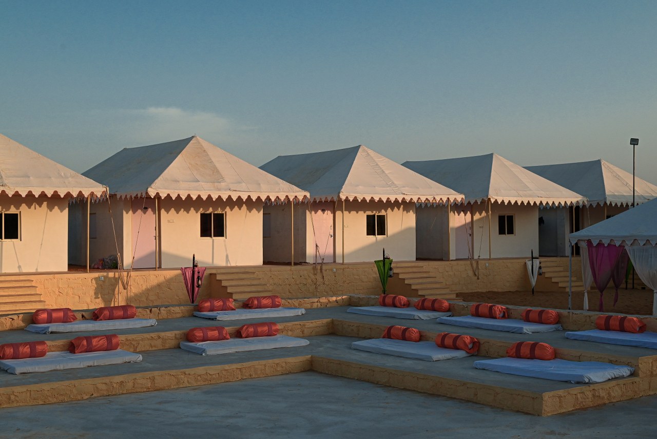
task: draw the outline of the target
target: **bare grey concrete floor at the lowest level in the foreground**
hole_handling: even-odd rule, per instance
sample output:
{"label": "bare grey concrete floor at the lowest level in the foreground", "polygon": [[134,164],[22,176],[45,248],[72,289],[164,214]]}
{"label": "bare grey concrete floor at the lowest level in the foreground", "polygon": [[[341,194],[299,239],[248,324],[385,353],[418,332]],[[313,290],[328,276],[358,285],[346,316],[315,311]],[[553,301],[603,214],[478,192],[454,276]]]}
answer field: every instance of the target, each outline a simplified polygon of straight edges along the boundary
{"label": "bare grey concrete floor at the lowest level in the foreground", "polygon": [[304,372],[0,410],[0,438],[652,438],[657,396],[541,418]]}

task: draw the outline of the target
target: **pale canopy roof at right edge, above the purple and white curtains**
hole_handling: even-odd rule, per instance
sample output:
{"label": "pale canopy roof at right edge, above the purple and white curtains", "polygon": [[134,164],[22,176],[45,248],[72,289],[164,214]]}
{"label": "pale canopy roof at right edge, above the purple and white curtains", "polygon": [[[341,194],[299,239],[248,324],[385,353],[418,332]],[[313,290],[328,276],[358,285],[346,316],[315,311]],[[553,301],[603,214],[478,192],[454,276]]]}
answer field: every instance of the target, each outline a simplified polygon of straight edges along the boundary
{"label": "pale canopy roof at right edge, above the purple and white curtains", "polygon": [[[570,242],[590,239],[593,243],[616,245],[657,244],[657,200],[631,208],[622,214],[600,221],[570,234]],[[635,241],[636,240],[636,241]]]}

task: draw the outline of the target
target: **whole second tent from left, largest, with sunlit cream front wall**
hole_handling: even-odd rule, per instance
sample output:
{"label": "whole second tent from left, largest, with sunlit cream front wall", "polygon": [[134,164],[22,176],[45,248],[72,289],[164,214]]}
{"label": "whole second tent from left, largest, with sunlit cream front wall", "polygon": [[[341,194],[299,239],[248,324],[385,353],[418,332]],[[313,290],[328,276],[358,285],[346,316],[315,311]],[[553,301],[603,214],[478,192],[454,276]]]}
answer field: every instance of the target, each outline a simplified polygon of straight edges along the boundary
{"label": "whole second tent from left, largest, with sunlit cream front wall", "polygon": [[123,149],[84,175],[108,185],[114,202],[114,225],[97,208],[95,258],[116,254],[114,227],[135,268],[188,266],[192,254],[203,266],[260,265],[263,203],[308,197],[196,136]]}

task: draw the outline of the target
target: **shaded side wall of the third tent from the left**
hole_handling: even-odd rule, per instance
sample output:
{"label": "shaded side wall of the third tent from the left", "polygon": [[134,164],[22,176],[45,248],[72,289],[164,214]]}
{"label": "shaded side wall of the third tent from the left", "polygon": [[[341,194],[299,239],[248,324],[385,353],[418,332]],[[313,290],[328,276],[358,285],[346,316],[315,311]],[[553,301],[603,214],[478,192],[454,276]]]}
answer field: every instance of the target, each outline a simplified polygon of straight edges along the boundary
{"label": "shaded side wall of the third tent from the left", "polygon": [[[265,204],[263,215],[269,215],[270,236],[262,239],[262,254],[265,262],[290,262],[292,258],[292,206]],[[313,262],[315,244],[310,225],[307,203],[294,204],[294,262]],[[332,261],[330,261],[332,262]]]}

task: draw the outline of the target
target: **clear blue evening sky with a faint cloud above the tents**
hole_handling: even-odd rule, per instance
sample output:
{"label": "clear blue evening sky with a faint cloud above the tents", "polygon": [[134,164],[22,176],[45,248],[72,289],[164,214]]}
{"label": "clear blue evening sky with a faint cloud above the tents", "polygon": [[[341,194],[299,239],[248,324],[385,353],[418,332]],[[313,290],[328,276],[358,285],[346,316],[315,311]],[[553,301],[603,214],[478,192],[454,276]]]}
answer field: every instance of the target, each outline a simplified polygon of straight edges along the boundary
{"label": "clear blue evening sky with a faint cloud above the tents", "polygon": [[0,133],[83,172],[198,135],[260,166],[603,158],[657,183],[655,1],[0,0]]}

